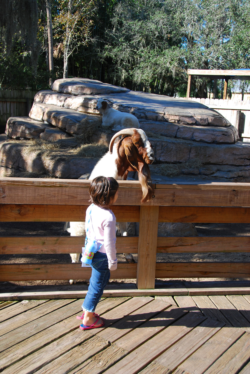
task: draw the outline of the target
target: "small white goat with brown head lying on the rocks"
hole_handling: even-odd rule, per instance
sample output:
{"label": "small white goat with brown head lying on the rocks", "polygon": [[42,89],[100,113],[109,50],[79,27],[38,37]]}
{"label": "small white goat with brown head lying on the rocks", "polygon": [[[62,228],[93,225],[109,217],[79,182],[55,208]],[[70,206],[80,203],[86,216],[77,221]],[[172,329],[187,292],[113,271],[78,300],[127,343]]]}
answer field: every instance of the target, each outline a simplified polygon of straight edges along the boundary
{"label": "small white goat with brown head lying on the rocks", "polygon": [[102,126],[113,126],[116,131],[140,127],[138,119],[133,114],[113,109],[107,101],[109,100],[99,99],[96,104],[96,109],[103,115]]}

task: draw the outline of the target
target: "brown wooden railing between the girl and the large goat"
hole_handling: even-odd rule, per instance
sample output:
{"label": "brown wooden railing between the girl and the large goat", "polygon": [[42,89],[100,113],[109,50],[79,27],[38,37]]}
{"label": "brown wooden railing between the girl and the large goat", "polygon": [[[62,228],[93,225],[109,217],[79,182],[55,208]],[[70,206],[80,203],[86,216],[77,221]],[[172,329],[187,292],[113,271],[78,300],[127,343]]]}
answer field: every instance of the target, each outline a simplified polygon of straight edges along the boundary
{"label": "brown wooden railing between the girl and the large goat", "polygon": [[[0,179],[0,221],[84,221],[87,180]],[[153,289],[155,278],[249,277],[250,263],[156,262],[157,252],[249,252],[250,236],[157,237],[158,222],[250,223],[249,183],[154,184],[154,198],[140,204],[141,186],[119,181],[117,221],[140,222],[138,237],[118,237],[118,253],[138,253],[138,263],[118,264],[114,279],[137,278]],[[10,233],[11,234],[11,233]],[[0,254],[80,253],[83,237],[0,237]],[[72,264],[1,264],[0,281],[86,279],[91,269]]]}

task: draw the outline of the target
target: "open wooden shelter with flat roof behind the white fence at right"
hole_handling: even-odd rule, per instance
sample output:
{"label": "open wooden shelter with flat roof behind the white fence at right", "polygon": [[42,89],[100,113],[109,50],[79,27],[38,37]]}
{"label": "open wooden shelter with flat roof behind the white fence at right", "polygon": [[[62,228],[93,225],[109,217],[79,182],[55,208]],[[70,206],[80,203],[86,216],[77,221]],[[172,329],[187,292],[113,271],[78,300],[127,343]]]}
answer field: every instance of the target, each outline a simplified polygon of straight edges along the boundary
{"label": "open wooden shelter with flat roof behind the white fence at right", "polygon": [[234,69],[234,70],[207,70],[207,69],[188,69],[188,86],[187,86],[187,98],[190,97],[192,76],[207,77],[215,81],[214,96],[216,97],[217,79],[225,80],[223,99],[226,99],[226,93],[228,88],[229,79],[247,80],[250,79],[250,69]]}

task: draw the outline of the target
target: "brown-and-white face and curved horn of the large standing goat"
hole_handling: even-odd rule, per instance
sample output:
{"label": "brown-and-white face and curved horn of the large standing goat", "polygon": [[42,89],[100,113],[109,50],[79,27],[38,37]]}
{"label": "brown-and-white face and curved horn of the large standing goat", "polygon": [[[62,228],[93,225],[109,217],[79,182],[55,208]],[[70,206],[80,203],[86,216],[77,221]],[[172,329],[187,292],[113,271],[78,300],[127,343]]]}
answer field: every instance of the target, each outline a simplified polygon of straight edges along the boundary
{"label": "brown-and-white face and curved horn of the large standing goat", "polygon": [[[110,141],[109,153],[112,153],[115,139],[122,135],[125,154],[131,165],[137,169],[138,161],[151,164],[154,161],[154,151],[147,135],[142,129],[123,129],[117,132]],[[136,159],[136,160],[135,160]]]}

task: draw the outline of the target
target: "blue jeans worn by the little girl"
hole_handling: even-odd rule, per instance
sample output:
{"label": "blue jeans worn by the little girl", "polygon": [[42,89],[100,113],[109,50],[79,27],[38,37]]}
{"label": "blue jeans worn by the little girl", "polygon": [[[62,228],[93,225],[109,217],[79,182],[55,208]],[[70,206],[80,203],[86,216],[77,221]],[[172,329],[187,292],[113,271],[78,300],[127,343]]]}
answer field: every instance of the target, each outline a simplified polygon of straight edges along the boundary
{"label": "blue jeans worn by the little girl", "polygon": [[86,312],[94,312],[103,294],[104,287],[109,282],[110,271],[106,253],[96,252],[93,256],[92,274],[88,292],[82,304]]}

